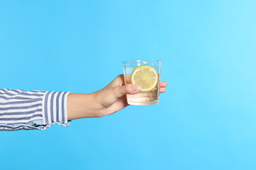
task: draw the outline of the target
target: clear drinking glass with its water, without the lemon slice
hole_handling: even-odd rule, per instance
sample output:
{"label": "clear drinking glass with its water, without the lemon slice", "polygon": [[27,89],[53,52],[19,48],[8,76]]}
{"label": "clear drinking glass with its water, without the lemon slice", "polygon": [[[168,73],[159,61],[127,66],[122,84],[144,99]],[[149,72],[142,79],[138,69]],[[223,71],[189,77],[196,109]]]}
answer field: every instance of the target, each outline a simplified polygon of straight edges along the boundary
{"label": "clear drinking glass with its water, without the lemon slice", "polygon": [[159,103],[161,60],[141,59],[123,61],[125,84],[131,84],[131,73],[133,73],[135,68],[144,69],[142,65],[149,65],[150,67],[156,69],[158,73],[158,82],[154,89],[150,90],[149,92],[139,92],[133,95],[127,94],[127,102],[129,105],[153,105]]}

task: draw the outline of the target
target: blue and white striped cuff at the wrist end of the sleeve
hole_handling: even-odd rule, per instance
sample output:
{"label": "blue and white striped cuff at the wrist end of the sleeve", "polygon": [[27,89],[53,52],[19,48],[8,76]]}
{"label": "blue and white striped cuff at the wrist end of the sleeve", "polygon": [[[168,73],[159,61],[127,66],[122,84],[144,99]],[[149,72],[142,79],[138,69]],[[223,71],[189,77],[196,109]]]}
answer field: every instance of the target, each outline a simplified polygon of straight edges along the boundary
{"label": "blue and white striped cuff at the wrist end of the sleeve", "polygon": [[70,126],[67,99],[70,92],[46,92],[43,96],[43,124],[45,129],[58,124]]}

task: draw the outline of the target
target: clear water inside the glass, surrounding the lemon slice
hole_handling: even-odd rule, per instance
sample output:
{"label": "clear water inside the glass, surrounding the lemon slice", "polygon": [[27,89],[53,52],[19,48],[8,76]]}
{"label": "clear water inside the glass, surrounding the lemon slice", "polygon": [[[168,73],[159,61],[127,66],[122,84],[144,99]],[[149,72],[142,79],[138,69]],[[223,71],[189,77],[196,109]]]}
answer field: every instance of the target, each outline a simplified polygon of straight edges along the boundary
{"label": "clear water inside the glass, surrounding the lemon slice", "polygon": [[[158,83],[153,90],[149,92],[139,92],[137,94],[127,94],[127,102],[129,105],[152,105],[159,102],[160,95],[160,67],[152,67],[158,72]],[[123,67],[125,73],[125,84],[131,84],[131,73],[135,67]]]}

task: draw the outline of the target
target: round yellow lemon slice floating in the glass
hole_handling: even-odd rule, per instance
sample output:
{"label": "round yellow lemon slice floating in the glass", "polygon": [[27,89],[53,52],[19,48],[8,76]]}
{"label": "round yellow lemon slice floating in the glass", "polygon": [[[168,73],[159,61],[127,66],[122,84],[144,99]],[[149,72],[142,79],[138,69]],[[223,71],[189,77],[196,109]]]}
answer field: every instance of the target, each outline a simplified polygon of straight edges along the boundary
{"label": "round yellow lemon slice floating in the glass", "polygon": [[140,65],[131,73],[131,84],[141,86],[141,92],[154,90],[158,84],[158,71],[149,65]]}

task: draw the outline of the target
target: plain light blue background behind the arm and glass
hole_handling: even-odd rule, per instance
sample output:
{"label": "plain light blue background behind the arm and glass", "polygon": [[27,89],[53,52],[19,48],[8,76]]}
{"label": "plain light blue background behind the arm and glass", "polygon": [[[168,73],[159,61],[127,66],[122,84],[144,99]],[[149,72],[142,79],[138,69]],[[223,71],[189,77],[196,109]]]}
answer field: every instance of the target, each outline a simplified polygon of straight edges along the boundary
{"label": "plain light blue background behind the arm and glass", "polygon": [[0,1],[0,87],[91,93],[162,59],[160,103],[0,132],[0,169],[256,169],[255,1]]}

